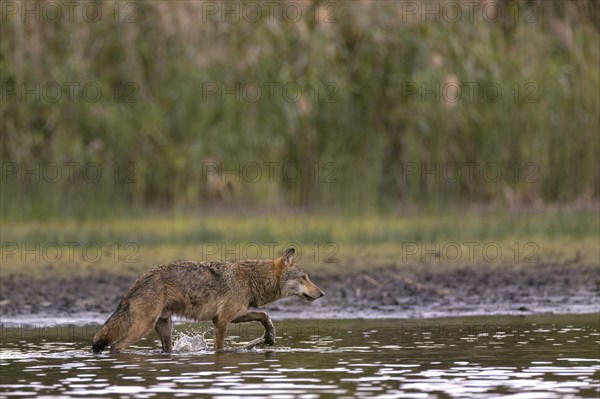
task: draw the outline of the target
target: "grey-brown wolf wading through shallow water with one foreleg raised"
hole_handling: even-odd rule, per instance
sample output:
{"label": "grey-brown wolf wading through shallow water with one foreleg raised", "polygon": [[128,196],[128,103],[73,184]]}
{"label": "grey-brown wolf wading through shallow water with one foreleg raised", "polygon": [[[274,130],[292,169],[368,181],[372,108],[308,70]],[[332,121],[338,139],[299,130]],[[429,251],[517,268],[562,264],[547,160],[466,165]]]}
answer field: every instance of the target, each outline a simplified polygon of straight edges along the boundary
{"label": "grey-brown wolf wading through shallow water with one foreleg raised", "polygon": [[110,345],[120,353],[156,330],[162,350],[172,352],[173,315],[192,320],[211,320],[214,348],[222,350],[229,323],[259,321],[265,334],[253,346],[275,343],[275,327],[266,312],[249,311],[288,296],[309,301],[323,291],[296,263],[295,249],[288,248],[275,260],[248,259],[236,262],[177,261],[159,265],[142,274],[129,288],[117,310],[96,333],[94,353]]}

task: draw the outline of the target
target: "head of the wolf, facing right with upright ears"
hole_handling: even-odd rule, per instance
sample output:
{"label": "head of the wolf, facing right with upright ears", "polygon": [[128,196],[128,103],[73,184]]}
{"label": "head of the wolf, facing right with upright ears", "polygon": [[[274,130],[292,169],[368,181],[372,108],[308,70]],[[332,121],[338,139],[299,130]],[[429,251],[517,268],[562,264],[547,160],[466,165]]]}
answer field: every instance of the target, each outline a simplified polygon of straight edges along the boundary
{"label": "head of the wolf, facing right with upright ears", "polygon": [[281,271],[281,293],[283,296],[299,296],[309,301],[321,298],[323,291],[314,285],[308,274],[296,264],[294,248],[288,248],[285,255],[275,261],[276,267]]}

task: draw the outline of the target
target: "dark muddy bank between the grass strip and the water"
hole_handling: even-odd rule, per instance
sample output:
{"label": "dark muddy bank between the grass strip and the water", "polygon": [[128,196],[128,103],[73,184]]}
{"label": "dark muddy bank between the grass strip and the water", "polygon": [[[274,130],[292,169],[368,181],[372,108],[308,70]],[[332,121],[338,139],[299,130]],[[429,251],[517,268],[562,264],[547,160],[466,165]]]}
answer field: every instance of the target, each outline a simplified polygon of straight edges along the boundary
{"label": "dark muddy bank between the grass strip and the water", "polygon": [[[279,318],[437,317],[485,314],[591,313],[600,310],[597,265],[544,263],[526,267],[472,265],[387,267],[312,273],[326,296],[313,303],[287,298],[266,309]],[[348,268],[352,270],[352,268]],[[31,279],[3,275],[2,320],[103,320],[135,276]]]}

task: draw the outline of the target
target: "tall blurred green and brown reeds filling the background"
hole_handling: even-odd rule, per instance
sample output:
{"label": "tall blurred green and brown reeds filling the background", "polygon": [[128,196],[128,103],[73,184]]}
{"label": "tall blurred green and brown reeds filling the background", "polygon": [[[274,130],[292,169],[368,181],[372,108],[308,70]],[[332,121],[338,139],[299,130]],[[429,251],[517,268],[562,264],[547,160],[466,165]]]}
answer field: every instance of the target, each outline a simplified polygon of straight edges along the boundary
{"label": "tall blurred green and brown reeds filling the background", "polygon": [[[369,214],[468,203],[589,204],[600,196],[594,1],[502,1],[505,18],[490,22],[476,12],[470,21],[464,13],[456,23],[447,15],[422,22],[395,1],[303,2],[298,20],[263,10],[253,22],[224,21],[200,1],[96,4],[103,17],[94,23],[81,10],[60,23],[2,16],[5,218],[217,205]],[[122,7],[118,15],[115,7]],[[100,88],[97,101],[94,91],[84,92],[88,83]],[[457,88],[460,99],[452,101]],[[73,178],[68,162],[77,163]],[[258,179],[243,172],[253,163],[262,167]],[[278,165],[273,179],[267,163]],[[62,175],[54,178],[49,165]],[[86,175],[87,165],[102,178]],[[214,165],[218,170],[207,169]],[[286,165],[298,165],[302,176],[285,174]],[[20,174],[24,169],[34,172]],[[560,229],[589,232],[578,218],[559,219],[539,222],[551,238]],[[450,239],[455,222],[411,230],[383,221],[381,229],[351,228],[341,236],[348,245]],[[147,246],[279,237],[275,222],[241,232],[204,219],[177,222],[187,227],[156,223],[165,229],[74,225],[65,234],[131,235]],[[338,239],[335,223],[311,223],[314,229],[290,239]],[[538,222],[477,222],[459,235],[510,237],[511,227],[535,234],[528,223]],[[41,233],[13,234],[29,240]]]}

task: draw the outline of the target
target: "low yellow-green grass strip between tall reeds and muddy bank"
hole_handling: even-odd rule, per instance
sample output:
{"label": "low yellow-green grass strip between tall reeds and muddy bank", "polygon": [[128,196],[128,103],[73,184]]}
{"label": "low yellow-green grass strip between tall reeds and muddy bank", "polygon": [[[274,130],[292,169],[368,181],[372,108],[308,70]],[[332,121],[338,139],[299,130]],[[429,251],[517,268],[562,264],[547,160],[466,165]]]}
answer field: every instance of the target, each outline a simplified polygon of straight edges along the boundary
{"label": "low yellow-green grass strip between tall reeds and muddy bank", "polygon": [[8,221],[3,275],[138,274],[175,259],[273,258],[300,250],[308,270],[368,271],[391,264],[600,263],[597,214],[411,215],[343,218],[153,216]]}

